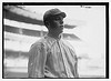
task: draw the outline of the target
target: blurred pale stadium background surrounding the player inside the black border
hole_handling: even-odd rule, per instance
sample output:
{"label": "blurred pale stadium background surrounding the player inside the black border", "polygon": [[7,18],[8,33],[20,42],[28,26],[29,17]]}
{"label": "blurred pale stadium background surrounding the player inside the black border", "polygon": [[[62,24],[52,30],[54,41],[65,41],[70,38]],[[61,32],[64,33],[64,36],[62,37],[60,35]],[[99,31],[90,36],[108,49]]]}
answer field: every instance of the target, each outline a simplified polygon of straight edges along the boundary
{"label": "blurred pale stadium background surrounding the player inside the black border", "polygon": [[105,78],[104,6],[3,6],[3,78],[28,78],[28,51],[46,36],[43,13],[67,13],[63,39],[75,49],[80,78]]}

